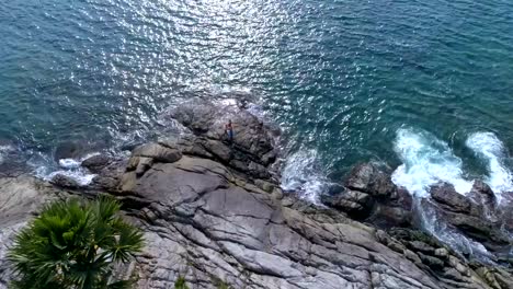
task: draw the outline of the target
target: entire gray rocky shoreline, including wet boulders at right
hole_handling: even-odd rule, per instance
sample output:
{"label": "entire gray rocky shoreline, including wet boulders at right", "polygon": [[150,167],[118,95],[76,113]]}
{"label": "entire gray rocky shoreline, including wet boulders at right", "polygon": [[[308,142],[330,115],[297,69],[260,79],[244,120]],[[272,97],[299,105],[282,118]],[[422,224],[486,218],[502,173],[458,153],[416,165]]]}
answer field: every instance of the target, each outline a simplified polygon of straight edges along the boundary
{"label": "entire gray rocky shoreline, including wet boulders at right", "polygon": [[[440,184],[418,201],[386,167],[364,163],[315,206],[282,192],[278,131],[248,111],[189,103],[166,117],[180,132],[126,159],[84,160],[96,174],[87,187],[65,175],[53,185],[0,177],[0,288],[11,277],[5,251],[31,216],[53,199],[99,194],[122,200],[145,231],[144,253],[118,268],[137,276],[138,288],[173,288],[179,277],[191,288],[513,288],[511,210],[482,182],[469,197]],[[238,125],[232,143],[224,136],[228,118]],[[421,231],[420,212],[489,254]]]}

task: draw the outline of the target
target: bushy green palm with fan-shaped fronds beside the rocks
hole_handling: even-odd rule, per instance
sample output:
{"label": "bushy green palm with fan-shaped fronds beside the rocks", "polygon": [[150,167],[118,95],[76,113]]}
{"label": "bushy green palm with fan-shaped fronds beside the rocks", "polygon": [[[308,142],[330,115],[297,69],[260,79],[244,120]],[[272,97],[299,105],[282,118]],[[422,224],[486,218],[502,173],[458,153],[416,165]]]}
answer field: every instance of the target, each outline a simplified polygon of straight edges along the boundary
{"label": "bushy green palm with fan-shaped fronds beside the rocks", "polygon": [[130,288],[132,280],[112,280],[113,265],[132,261],[144,240],[119,208],[105,197],[47,205],[9,252],[18,278],[12,288]]}

